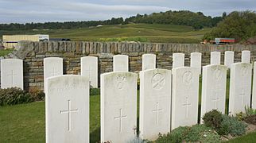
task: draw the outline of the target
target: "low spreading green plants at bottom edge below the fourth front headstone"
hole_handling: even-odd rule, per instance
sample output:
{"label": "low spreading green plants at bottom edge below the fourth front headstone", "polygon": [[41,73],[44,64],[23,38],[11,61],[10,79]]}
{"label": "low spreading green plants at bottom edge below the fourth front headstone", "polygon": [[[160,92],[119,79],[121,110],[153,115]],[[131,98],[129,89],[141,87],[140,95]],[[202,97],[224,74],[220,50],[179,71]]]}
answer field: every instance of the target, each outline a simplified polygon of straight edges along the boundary
{"label": "low spreading green plants at bottom edge below the fourth front headstone", "polygon": [[156,142],[220,142],[220,137],[215,130],[204,125],[180,126],[167,135],[160,134]]}

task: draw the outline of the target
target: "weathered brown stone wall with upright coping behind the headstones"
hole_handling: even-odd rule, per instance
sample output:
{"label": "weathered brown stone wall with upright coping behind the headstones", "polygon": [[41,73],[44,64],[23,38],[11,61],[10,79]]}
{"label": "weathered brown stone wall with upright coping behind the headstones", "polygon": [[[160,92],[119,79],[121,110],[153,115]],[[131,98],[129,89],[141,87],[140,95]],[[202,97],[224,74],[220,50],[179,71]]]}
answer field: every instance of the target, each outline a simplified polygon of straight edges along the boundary
{"label": "weathered brown stone wall with upright coping behind the headstones", "polygon": [[[173,52],[185,53],[185,65],[189,66],[191,52],[202,53],[202,64],[210,63],[210,52],[222,53],[222,64],[225,51],[235,52],[235,62],[241,60],[241,51],[250,50],[251,60],[256,57],[256,45],[213,45],[213,44],[159,44],[138,42],[29,42],[22,41],[19,49],[4,58],[24,60],[24,85],[29,88],[44,88],[43,60],[45,57],[61,57],[64,59],[64,74],[80,74],[80,57],[98,56],[99,73],[112,71],[112,56],[125,54],[129,56],[130,72],[142,70],[142,54],[157,55],[157,68],[172,68]],[[1,59],[1,57],[0,57]]]}

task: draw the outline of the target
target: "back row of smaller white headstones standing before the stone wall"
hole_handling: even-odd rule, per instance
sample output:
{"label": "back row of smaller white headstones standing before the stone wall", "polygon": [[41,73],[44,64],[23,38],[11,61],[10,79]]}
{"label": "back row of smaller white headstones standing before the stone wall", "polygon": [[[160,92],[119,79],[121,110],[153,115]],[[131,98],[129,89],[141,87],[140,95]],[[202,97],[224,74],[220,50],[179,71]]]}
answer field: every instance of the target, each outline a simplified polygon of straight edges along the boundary
{"label": "back row of smaller white headstones standing before the stone wall", "polygon": [[[192,52],[190,66],[198,68],[201,72],[200,52]],[[129,72],[129,59],[126,55],[116,55],[113,57],[114,72]],[[234,63],[234,52],[226,51],[224,65],[227,68]],[[250,63],[250,51],[242,51],[242,63]],[[211,64],[220,64],[220,52],[211,52]],[[173,53],[173,68],[184,67],[184,53]],[[142,71],[156,68],[156,55],[142,55]],[[18,59],[1,60],[1,87],[20,87],[23,89],[23,62]],[[58,57],[44,59],[44,79],[63,75],[63,60]],[[85,56],[81,58],[81,75],[90,80],[91,87],[98,87],[98,58],[95,56]]]}

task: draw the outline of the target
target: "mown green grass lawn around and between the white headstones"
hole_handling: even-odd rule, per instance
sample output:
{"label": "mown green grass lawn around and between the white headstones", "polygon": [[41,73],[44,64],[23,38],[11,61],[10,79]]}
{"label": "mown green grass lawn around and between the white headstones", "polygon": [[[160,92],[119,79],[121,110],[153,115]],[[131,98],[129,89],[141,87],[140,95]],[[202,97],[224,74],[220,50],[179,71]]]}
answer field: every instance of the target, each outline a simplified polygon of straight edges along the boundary
{"label": "mown green grass lawn around and between the white headstones", "polygon": [[[227,81],[227,87],[229,87],[229,79],[227,79]],[[227,100],[228,93],[229,92],[227,91]],[[0,125],[0,142],[45,142],[45,102],[32,102],[15,106],[1,106]],[[100,97],[99,95],[93,95],[90,96],[90,142],[96,142],[99,140]],[[255,141],[256,133],[250,133],[246,136],[231,140],[230,142]]]}

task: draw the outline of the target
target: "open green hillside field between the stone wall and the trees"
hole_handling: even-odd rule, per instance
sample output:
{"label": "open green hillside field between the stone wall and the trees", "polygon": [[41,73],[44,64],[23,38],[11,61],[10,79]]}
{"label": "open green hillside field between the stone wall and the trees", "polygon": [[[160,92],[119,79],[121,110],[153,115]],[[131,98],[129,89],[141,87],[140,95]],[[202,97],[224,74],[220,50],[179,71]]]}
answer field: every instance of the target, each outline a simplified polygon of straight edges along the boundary
{"label": "open green hillside field between the stone wall and the trees", "polygon": [[[142,41],[167,43],[199,43],[211,29],[194,30],[185,25],[128,24],[104,25],[83,29],[49,29],[28,31],[1,31],[4,34],[49,34],[52,38],[70,38],[72,41]],[[2,34],[2,35],[1,35]]]}

